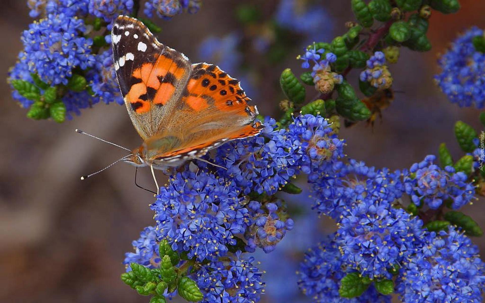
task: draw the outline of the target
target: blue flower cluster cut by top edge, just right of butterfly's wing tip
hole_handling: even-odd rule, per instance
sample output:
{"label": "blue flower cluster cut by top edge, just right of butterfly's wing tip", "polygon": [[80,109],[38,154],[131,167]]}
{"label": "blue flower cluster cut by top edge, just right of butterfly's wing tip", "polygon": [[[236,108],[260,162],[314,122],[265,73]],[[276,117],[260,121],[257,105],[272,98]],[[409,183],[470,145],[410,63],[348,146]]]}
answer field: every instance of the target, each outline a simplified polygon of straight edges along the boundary
{"label": "blue flower cluster cut by top edge, just right of butterfly's wing tip", "polygon": [[155,12],[157,16],[163,19],[188,12],[195,14],[199,11],[202,0],[148,0],[145,2],[143,12],[150,18]]}

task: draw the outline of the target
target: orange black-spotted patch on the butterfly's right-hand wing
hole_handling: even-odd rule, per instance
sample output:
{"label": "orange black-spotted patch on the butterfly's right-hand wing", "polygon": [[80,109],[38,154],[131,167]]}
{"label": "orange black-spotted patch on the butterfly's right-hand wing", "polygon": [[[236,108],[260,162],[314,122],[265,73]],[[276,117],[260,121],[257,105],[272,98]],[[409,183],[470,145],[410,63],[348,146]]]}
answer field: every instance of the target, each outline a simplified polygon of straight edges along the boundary
{"label": "orange black-spotted patch on the butterfly's right-hand wing", "polygon": [[193,64],[184,98],[192,110],[198,112],[215,106],[222,112],[235,112],[245,117],[253,117],[257,111],[254,106],[247,105],[250,100],[239,81],[231,78],[219,66],[207,63]]}

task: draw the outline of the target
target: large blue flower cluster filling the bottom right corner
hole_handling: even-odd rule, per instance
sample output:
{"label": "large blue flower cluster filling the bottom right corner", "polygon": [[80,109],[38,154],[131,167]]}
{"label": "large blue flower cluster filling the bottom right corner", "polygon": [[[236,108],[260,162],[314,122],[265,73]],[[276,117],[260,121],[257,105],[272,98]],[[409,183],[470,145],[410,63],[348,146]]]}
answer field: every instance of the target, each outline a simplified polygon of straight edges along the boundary
{"label": "large blue flower cluster filling the bottom right corner", "polygon": [[396,290],[404,303],[482,302],[485,266],[478,247],[461,231],[427,233],[403,264]]}

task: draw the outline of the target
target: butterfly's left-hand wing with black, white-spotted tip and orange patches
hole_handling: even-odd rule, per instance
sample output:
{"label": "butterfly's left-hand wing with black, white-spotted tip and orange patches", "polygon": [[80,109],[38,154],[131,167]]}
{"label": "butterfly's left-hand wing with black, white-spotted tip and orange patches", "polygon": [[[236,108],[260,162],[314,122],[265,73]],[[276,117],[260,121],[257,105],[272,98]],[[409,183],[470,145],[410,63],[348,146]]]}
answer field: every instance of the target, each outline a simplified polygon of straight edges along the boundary
{"label": "butterfly's left-hand wing with black, white-spotted tip and orange patches", "polygon": [[189,59],[159,43],[139,20],[118,16],[111,34],[114,68],[133,126],[147,140],[163,130],[192,72]]}

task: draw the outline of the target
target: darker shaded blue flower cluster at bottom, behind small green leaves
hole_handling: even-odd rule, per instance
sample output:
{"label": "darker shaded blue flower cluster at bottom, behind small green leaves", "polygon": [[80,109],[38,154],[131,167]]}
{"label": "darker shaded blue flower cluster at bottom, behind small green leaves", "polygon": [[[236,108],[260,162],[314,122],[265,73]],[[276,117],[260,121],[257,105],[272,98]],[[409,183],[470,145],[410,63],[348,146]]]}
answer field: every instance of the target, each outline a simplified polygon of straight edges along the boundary
{"label": "darker shaded blue flower cluster at bottom, behind small green leaves", "polygon": [[341,298],[340,280],[349,272],[342,262],[335,234],[311,248],[300,264],[298,287],[317,303],[390,303],[390,296],[383,296],[369,287],[361,296],[353,299]]}

